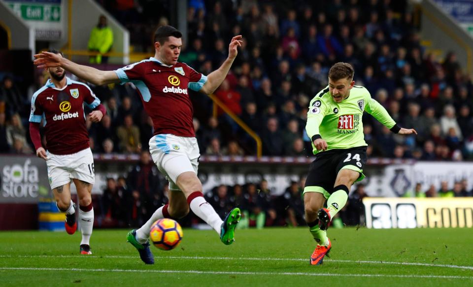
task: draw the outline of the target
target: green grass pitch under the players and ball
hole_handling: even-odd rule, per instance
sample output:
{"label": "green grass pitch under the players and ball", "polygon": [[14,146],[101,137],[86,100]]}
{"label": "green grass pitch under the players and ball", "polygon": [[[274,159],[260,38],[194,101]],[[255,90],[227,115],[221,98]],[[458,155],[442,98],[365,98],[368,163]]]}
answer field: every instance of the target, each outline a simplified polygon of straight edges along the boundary
{"label": "green grass pitch under the players and ball", "polygon": [[237,230],[230,246],[185,229],[176,250],[152,247],[154,265],[140,261],[127,231],[95,230],[91,256],[78,254],[78,232],[0,232],[0,286],[473,286],[468,228],[329,229],[321,266],[309,265],[306,228]]}

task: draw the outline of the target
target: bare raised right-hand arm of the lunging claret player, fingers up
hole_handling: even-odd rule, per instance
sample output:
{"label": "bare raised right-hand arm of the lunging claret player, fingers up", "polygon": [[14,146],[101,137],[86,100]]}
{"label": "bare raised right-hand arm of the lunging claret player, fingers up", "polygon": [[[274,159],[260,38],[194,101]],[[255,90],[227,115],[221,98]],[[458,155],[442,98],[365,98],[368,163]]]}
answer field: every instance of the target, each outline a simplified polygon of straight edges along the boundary
{"label": "bare raised right-hand arm of the lunging claret player, fingers up", "polygon": [[232,38],[228,48],[229,53],[227,60],[225,60],[225,62],[223,62],[223,64],[218,69],[207,75],[207,81],[202,86],[200,92],[206,95],[212,94],[215,90],[217,90],[220,84],[222,84],[223,80],[225,80],[225,77],[228,74],[228,71],[230,70],[230,67],[233,64],[233,61],[236,58],[236,55],[238,54],[238,46],[241,46],[241,35]]}

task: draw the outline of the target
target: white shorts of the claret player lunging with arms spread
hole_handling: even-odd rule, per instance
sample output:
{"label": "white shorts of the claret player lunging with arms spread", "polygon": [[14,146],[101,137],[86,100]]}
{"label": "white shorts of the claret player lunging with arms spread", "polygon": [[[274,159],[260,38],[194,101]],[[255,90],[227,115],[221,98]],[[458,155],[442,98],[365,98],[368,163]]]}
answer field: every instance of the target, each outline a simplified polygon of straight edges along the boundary
{"label": "white shorts of the claret player lunging with arms spread", "polygon": [[169,180],[170,191],[180,191],[177,177],[186,171],[197,175],[199,146],[195,137],[157,134],[149,140],[149,152],[158,169]]}

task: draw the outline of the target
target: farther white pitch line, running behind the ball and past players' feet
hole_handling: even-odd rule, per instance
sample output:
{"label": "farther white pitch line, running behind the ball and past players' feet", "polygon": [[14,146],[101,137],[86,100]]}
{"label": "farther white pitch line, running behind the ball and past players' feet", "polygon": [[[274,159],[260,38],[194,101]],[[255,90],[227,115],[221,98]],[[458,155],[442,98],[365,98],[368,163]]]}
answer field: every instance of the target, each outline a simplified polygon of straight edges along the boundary
{"label": "farther white pitch line, running behind the ball and past players' feet", "polygon": [[[37,258],[37,257],[59,257],[59,258],[138,258],[138,256],[129,255],[0,255],[0,258]],[[204,259],[204,260],[251,260],[251,261],[268,261],[268,260],[286,260],[286,261],[308,261],[303,258],[257,258],[257,257],[206,257],[206,256],[154,256],[156,259]],[[345,263],[359,263],[359,264],[391,264],[391,265],[411,265],[411,266],[428,266],[428,267],[442,267],[454,269],[473,270],[473,266],[462,266],[452,264],[431,264],[431,263],[416,263],[416,262],[391,262],[391,261],[368,261],[368,260],[336,260],[326,258],[326,262],[345,262]]]}

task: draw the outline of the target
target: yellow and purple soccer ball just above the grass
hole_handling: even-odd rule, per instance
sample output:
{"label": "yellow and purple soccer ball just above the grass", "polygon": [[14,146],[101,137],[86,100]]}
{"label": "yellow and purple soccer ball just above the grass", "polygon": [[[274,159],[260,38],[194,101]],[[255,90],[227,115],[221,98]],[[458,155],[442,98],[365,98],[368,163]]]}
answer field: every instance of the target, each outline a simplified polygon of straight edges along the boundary
{"label": "yellow and purple soccer ball just above the grass", "polygon": [[156,221],[149,231],[149,239],[161,250],[176,248],[182,240],[182,228],[179,223],[169,218]]}

